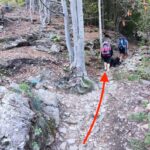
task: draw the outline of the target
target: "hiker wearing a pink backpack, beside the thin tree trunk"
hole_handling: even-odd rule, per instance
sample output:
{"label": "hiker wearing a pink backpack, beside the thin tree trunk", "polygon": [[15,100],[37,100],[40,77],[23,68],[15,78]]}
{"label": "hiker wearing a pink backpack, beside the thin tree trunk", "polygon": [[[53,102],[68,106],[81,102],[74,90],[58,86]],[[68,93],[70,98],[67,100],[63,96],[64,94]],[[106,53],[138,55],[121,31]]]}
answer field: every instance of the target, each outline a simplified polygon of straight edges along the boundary
{"label": "hiker wearing a pink backpack, beside the thin tree trunk", "polygon": [[104,41],[101,48],[101,57],[104,61],[104,70],[109,72],[111,57],[113,55],[113,50],[108,41]]}

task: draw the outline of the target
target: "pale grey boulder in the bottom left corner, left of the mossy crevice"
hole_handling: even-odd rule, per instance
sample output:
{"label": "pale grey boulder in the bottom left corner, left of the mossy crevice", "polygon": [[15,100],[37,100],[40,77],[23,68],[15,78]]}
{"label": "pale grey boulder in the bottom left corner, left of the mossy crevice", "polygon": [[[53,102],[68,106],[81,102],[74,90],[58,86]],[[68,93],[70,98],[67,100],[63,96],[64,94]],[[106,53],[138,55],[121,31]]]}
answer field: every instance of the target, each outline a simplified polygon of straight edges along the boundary
{"label": "pale grey boulder in the bottom left corner, left of the mossy crevice", "polygon": [[16,93],[6,93],[0,105],[0,149],[23,150],[29,140],[29,130],[34,112],[27,98]]}

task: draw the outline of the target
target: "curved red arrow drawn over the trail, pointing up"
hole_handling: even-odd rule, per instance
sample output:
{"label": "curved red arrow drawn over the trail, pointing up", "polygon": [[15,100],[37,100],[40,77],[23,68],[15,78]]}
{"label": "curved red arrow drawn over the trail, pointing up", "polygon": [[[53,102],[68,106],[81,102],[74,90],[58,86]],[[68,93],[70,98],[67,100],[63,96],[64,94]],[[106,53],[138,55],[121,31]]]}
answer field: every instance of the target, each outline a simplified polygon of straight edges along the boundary
{"label": "curved red arrow drawn over the trail, pointing up", "polygon": [[106,84],[106,82],[109,82],[106,73],[104,73],[104,74],[102,75],[102,77],[101,77],[101,79],[100,79],[100,82],[103,82],[102,92],[101,92],[101,96],[100,96],[100,101],[99,101],[99,103],[98,103],[98,106],[97,106],[96,113],[95,113],[95,115],[94,115],[94,119],[93,119],[93,121],[92,121],[92,124],[91,124],[91,126],[90,126],[90,128],[89,128],[89,130],[88,130],[88,132],[87,132],[87,134],[86,134],[86,136],[85,136],[85,138],[84,138],[84,140],[83,140],[83,144],[86,144],[86,142],[87,142],[87,140],[88,140],[88,137],[90,136],[90,133],[91,133],[91,131],[92,131],[93,127],[94,127],[94,124],[95,124],[95,122],[96,122],[96,119],[97,119],[97,116],[98,116],[100,107],[101,107],[101,105],[102,105],[103,96],[104,96],[104,92],[105,92],[105,84]]}

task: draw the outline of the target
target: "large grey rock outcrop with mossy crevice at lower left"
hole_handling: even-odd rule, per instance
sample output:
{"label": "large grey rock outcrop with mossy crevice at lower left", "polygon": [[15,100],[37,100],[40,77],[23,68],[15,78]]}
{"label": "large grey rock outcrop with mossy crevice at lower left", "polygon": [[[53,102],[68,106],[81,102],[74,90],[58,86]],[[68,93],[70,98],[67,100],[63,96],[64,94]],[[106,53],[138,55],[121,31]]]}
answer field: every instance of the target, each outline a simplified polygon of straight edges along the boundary
{"label": "large grey rock outcrop with mossy crevice at lower left", "polygon": [[59,124],[56,94],[40,89],[27,95],[0,86],[0,149],[45,149],[54,142]]}

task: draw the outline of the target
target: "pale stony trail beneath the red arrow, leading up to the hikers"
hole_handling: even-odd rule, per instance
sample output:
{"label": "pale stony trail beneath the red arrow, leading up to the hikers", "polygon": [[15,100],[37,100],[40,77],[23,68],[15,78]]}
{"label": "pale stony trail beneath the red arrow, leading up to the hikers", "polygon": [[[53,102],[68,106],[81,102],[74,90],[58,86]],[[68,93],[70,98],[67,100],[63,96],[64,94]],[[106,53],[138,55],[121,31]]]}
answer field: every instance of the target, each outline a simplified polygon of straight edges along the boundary
{"label": "pale stony trail beneath the red arrow, leading up to the hikers", "polygon": [[[140,58],[136,56],[136,59]],[[53,150],[132,150],[131,139],[144,138],[148,128],[143,131],[143,126],[147,123],[130,121],[129,117],[146,110],[142,104],[145,100],[150,102],[150,82],[114,80],[113,72],[121,68],[131,69],[131,66],[124,63],[109,73],[101,113],[85,145],[82,142],[94,118],[101,88],[84,96],[60,95],[61,123]]]}

